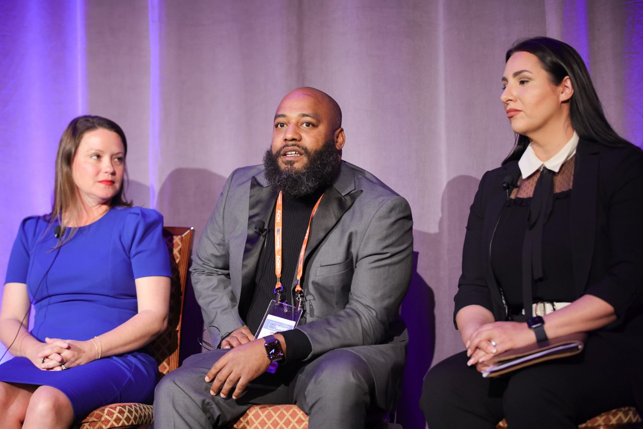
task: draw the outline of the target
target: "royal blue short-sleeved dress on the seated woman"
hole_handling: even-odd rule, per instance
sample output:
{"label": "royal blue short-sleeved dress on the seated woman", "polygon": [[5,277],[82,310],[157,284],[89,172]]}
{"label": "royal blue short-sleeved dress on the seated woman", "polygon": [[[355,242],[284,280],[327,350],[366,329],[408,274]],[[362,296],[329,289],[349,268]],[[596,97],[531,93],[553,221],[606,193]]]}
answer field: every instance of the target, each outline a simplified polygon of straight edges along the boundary
{"label": "royal blue short-sleeved dress on the seated woman", "polygon": [[[35,308],[33,337],[89,340],[137,313],[134,279],[171,277],[163,216],[116,207],[79,227],[59,249],[42,216],[23,220],[6,283],[26,283]],[[48,385],[71,401],[74,419],[109,403],[151,403],[158,365],[143,350],[109,356],[66,371],[42,371],[17,357],[0,365],[0,381]]]}

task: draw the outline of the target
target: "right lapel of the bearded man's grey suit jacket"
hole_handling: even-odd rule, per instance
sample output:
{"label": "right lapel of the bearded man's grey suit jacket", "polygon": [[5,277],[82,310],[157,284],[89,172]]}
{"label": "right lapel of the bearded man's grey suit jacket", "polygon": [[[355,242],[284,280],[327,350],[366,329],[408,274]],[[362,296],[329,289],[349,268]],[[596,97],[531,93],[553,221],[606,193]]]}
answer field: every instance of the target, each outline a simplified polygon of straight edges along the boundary
{"label": "right lapel of the bearded man's grey suit jacket", "polygon": [[340,166],[340,175],[321,198],[320,206],[317,209],[311,225],[311,234],[308,238],[308,246],[304,260],[320,245],[321,241],[328,235],[332,227],[339,222],[341,216],[350,209],[362,191],[355,191],[355,175],[345,165]]}

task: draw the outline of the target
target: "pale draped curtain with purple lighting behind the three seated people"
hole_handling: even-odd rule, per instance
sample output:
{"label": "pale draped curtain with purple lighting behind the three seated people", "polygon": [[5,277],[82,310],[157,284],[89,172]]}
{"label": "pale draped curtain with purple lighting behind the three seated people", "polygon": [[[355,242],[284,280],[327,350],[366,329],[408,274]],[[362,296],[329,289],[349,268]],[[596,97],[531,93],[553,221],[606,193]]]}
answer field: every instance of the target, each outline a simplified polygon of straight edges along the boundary
{"label": "pale draped curtain with purple lighting behind the three seated people", "polygon": [[643,144],[640,0],[3,0],[0,16],[0,277],[21,219],[50,210],[71,118],[119,123],[127,196],[198,236],[227,175],[261,162],[280,98],[317,87],[343,109],[343,158],[413,210],[404,427],[424,425],[424,372],[462,349],[452,299],[468,208],[514,141],[506,49],[572,44],[613,127]]}

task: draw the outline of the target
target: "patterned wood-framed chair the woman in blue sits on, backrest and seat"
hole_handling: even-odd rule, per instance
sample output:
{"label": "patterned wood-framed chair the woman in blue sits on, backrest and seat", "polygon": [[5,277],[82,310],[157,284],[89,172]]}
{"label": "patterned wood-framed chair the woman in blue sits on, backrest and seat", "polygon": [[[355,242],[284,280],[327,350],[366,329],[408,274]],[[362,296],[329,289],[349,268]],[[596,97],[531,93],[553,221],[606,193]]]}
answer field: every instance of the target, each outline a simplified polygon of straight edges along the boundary
{"label": "patterned wood-framed chair the woman in blue sits on, backrest and seat", "polygon": [[[152,344],[150,351],[159,364],[159,378],[179,367],[179,342],[181,340],[181,313],[188,276],[188,263],[192,252],[194,228],[165,227],[163,237],[172,262],[172,289],[167,329]],[[80,429],[147,428],[152,425],[152,405],[122,403],[105,405],[89,414]]]}

